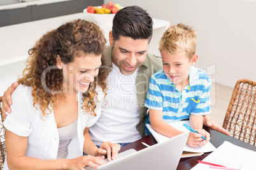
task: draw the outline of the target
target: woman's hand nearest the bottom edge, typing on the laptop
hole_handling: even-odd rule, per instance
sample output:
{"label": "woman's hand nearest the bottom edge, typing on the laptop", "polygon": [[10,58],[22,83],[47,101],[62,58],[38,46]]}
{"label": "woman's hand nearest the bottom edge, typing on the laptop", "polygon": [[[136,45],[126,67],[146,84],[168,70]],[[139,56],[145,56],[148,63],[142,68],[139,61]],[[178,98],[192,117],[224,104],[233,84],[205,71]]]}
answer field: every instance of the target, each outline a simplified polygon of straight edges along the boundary
{"label": "woman's hand nearest the bottom edge, typing on the laptop", "polygon": [[103,161],[104,157],[94,157],[91,155],[86,155],[82,157],[77,157],[75,159],[69,159],[68,160],[68,169],[74,169],[74,170],[84,170],[85,166],[94,167],[95,169],[98,169],[99,166],[105,164]]}

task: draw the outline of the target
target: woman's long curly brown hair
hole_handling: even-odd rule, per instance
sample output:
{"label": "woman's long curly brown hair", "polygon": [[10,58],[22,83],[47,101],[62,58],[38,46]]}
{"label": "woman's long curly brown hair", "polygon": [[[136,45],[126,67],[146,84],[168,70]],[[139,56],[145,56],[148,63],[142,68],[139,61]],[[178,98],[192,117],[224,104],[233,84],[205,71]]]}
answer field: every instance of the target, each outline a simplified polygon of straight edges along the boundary
{"label": "woman's long curly brown hair", "polygon": [[[55,106],[57,94],[63,93],[62,70],[56,67],[57,55],[64,64],[68,64],[79,57],[78,53],[85,55],[101,55],[102,65],[105,65],[103,52],[106,39],[102,30],[96,24],[85,20],[74,20],[61,25],[59,28],[47,32],[33,48],[29,49],[27,66],[23,71],[20,84],[32,87],[33,105],[38,104],[42,111],[41,117],[48,115],[48,107]],[[100,67],[99,74],[90,82],[89,89],[83,93],[83,109],[96,116],[97,98],[96,87],[103,89],[106,96],[106,77],[108,73]]]}

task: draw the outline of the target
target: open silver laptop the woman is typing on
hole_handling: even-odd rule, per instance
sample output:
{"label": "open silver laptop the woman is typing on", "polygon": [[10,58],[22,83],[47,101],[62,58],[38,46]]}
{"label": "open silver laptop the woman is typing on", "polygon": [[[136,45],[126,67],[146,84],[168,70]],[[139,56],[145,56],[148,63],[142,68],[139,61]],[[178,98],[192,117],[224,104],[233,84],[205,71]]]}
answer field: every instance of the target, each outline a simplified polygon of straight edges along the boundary
{"label": "open silver laptop the woman is typing on", "polygon": [[[176,169],[188,134],[182,133],[138,152],[134,149],[126,150],[118,154],[117,159],[106,160],[106,164],[99,166],[98,170]],[[85,166],[85,169],[94,168]]]}

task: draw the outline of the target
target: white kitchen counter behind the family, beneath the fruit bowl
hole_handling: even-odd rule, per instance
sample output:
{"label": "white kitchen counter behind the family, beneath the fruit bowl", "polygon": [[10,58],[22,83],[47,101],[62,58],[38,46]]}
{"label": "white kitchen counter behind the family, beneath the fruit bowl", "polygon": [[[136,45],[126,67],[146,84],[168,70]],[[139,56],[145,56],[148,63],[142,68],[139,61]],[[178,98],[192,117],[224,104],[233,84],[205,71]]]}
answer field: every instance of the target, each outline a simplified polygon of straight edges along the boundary
{"label": "white kitchen counter behind the family, beneath the fruit bowl", "polygon": [[[0,27],[0,96],[3,96],[4,91],[11,83],[17,81],[18,75],[22,74],[25,69],[25,60],[28,56],[27,51],[32,48],[35,42],[43,34],[59,27],[62,23],[78,18],[92,22],[92,18],[85,13],[76,13]],[[148,51],[155,55],[160,55],[158,50],[160,37],[170,23],[169,21],[155,18],[153,18],[153,22],[153,36]],[[103,29],[108,41],[108,33],[111,30],[112,23],[98,25]]]}

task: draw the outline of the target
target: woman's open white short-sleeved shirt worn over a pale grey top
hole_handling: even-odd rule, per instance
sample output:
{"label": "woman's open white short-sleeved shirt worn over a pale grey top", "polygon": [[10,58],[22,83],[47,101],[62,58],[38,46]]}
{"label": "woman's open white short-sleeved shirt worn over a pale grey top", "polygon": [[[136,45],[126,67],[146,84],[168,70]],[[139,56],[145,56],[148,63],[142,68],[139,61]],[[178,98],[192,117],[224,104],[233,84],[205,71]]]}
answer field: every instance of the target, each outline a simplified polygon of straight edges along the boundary
{"label": "woman's open white short-sleeved shirt worn over a pale grey top", "polygon": [[[42,117],[41,110],[33,107],[32,88],[20,84],[11,95],[13,105],[11,114],[4,121],[4,127],[19,136],[29,136],[27,138],[27,157],[39,159],[56,159],[59,148],[59,133],[55,123],[54,113],[47,117]],[[104,94],[99,92],[99,101],[103,100]],[[77,135],[68,146],[67,159],[73,159],[83,155],[83,130],[92,126],[101,115],[101,106],[97,103],[95,110],[97,116],[88,115],[82,110],[82,93],[78,92],[78,126]],[[38,105],[36,105],[39,108]],[[50,106],[49,106],[50,107]],[[50,107],[51,109],[51,107]],[[4,169],[8,169],[7,161],[4,162]]]}

